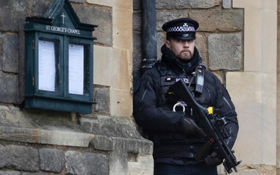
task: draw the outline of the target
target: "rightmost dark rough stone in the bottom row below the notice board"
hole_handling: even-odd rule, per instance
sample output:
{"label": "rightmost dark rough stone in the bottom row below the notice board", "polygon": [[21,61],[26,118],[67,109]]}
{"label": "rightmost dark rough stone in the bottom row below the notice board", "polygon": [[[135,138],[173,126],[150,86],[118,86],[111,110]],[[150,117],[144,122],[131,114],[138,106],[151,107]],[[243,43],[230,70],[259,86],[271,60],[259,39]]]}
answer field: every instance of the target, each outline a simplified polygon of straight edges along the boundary
{"label": "rightmost dark rough stone in the bottom row below the notice board", "polygon": [[108,174],[106,155],[67,151],[65,160],[66,174]]}

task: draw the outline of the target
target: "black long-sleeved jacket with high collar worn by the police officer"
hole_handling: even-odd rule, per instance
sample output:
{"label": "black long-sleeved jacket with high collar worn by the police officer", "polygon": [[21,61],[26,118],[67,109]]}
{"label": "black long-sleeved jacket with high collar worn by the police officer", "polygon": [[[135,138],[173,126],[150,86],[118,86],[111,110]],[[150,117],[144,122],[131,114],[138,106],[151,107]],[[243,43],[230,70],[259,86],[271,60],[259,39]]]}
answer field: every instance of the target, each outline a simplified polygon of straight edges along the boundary
{"label": "black long-sleeved jacket with high collar worn by the police officer", "polygon": [[[186,136],[183,134],[183,117],[191,117],[188,111],[190,108],[186,108],[185,112],[173,112],[173,105],[176,102],[168,101],[166,97],[168,93],[164,93],[164,90],[175,81],[169,82],[168,85],[163,81],[166,76],[190,78],[191,73],[202,62],[202,59],[196,48],[194,57],[188,64],[179,62],[165,45],[162,46],[161,51],[162,60],[157,61],[153,68],[145,72],[139,87],[134,92],[134,118],[136,123],[143,127],[147,139],[154,143],[155,162],[196,164],[199,162],[194,157],[206,140],[199,138],[198,135]],[[194,85],[191,85],[190,90],[193,89]],[[231,134],[228,145],[232,148],[238,132],[237,114],[227,90],[213,73],[204,71],[204,90],[201,95],[195,95],[195,99],[202,106],[219,108],[220,115],[227,118],[230,123],[226,127]],[[186,103],[188,102],[186,101]],[[203,127],[202,121],[199,121],[195,114],[192,118]],[[209,150],[206,154],[212,151]]]}

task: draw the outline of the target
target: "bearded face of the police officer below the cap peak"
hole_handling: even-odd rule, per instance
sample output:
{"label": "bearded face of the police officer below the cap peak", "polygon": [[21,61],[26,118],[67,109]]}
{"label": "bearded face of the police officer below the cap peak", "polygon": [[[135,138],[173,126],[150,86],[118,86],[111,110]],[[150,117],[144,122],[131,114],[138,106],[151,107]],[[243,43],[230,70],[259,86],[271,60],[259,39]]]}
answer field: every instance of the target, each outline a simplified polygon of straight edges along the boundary
{"label": "bearded face of the police officer below the cap peak", "polygon": [[188,62],[192,59],[195,48],[194,39],[173,39],[166,41],[165,45],[181,61]]}

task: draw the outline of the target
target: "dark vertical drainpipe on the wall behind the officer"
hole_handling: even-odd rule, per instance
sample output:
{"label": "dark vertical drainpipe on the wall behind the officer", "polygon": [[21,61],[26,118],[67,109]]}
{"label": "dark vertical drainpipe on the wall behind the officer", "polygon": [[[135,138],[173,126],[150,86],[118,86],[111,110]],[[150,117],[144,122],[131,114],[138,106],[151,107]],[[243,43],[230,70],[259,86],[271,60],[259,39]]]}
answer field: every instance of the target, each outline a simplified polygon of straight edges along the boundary
{"label": "dark vertical drainpipe on the wall behind the officer", "polygon": [[142,67],[144,72],[157,61],[155,0],[142,0]]}

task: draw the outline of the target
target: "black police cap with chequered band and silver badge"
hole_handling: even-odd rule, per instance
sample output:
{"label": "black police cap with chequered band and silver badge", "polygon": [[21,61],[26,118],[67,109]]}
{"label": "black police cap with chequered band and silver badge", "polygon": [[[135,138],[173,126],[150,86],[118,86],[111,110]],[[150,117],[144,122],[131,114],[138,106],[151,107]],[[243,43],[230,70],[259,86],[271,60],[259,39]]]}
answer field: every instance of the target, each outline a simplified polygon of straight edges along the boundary
{"label": "black police cap with chequered band and silver badge", "polygon": [[198,27],[196,20],[183,17],[164,23],[162,30],[166,31],[166,36],[174,39],[195,39],[195,30]]}

